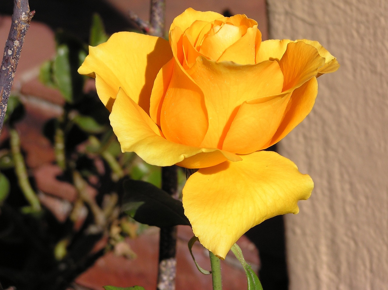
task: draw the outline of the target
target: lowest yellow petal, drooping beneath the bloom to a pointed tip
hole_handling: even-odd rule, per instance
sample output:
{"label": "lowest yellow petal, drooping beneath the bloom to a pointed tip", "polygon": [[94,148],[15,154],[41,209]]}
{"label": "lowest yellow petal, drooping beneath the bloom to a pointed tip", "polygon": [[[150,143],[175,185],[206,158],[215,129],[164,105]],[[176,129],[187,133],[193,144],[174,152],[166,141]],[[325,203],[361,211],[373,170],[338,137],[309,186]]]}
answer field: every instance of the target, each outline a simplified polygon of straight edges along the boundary
{"label": "lowest yellow petal, drooping beneath the bloom to a pointed tip", "polygon": [[242,155],[242,161],[199,169],[183,189],[183,206],[194,234],[225,259],[232,245],[265,219],[298,213],[298,200],[314,187],[310,176],[275,152]]}

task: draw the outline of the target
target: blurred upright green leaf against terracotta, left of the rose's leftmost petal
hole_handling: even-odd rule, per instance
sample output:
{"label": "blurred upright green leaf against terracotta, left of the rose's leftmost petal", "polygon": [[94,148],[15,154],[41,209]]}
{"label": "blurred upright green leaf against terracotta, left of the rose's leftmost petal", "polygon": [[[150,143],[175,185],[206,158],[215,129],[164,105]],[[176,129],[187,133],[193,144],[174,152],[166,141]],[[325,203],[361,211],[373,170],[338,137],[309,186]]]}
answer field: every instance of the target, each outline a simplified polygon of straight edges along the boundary
{"label": "blurred upright green leaf against terracotta, left of the rose's leftmost petal", "polygon": [[73,102],[73,87],[71,81],[71,67],[69,61],[69,47],[59,45],[53,62],[53,79],[66,102]]}

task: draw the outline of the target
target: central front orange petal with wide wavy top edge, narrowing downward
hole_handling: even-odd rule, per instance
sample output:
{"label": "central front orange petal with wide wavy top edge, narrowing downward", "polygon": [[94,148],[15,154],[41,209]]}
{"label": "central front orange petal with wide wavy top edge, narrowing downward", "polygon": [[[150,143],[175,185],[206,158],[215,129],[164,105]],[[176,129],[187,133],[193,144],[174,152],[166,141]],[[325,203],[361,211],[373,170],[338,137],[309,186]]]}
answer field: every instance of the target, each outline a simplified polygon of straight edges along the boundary
{"label": "central front orange petal with wide wavy top edge, narrowing downward", "polygon": [[279,65],[271,61],[241,66],[198,57],[188,72],[205,98],[209,126],[201,143],[203,147],[222,148],[240,105],[252,98],[280,93],[283,86]]}

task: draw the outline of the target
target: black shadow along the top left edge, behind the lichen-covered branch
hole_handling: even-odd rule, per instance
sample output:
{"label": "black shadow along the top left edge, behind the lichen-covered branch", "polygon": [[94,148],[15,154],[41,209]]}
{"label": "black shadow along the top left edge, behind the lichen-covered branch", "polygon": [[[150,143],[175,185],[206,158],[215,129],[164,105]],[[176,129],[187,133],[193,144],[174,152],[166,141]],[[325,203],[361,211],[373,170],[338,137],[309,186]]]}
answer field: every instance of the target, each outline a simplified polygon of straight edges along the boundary
{"label": "black shadow along the top left edge, behind the lichen-covered branch", "polygon": [[[49,25],[54,31],[64,29],[88,42],[92,16],[98,13],[104,21],[106,32],[139,29],[114,7],[102,0],[34,0],[29,1],[36,14],[33,21]],[[0,2],[0,14],[12,15],[13,1]],[[140,30],[140,29],[139,29]]]}

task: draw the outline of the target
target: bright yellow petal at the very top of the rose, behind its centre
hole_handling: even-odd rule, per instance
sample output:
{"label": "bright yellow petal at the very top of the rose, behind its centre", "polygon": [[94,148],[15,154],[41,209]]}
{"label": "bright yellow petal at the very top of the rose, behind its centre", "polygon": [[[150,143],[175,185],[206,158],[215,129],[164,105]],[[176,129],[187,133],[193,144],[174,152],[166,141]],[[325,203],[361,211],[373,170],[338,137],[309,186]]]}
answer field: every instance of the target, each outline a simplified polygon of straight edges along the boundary
{"label": "bright yellow petal at the very top of the rose, behind its centre", "polygon": [[194,21],[206,21],[206,22],[212,22],[215,21],[218,18],[222,18],[222,14],[219,14],[217,12],[212,11],[196,11],[192,8],[187,8],[182,14],[175,17],[173,20],[170,31],[173,30],[175,27],[179,27],[182,32],[184,32],[187,28],[191,26],[191,24]]}

